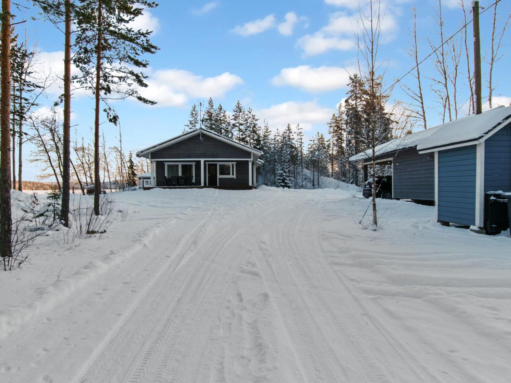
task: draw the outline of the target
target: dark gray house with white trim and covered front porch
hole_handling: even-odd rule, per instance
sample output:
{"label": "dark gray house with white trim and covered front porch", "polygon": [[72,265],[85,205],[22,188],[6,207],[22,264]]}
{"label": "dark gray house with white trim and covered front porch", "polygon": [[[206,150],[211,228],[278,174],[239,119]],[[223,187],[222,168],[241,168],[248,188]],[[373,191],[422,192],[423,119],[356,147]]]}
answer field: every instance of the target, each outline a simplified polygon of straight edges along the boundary
{"label": "dark gray house with white trim and covered front porch", "polygon": [[201,128],[137,152],[151,162],[151,187],[250,189],[263,152]]}

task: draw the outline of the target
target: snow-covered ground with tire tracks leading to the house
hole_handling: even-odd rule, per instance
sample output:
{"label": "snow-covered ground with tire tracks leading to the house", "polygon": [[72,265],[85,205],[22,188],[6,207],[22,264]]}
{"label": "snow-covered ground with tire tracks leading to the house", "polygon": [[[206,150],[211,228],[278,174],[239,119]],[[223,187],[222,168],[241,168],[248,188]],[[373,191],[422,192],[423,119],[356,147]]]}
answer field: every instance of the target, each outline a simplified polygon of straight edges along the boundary
{"label": "snow-covered ground with tire tracks leading to the house", "polygon": [[114,196],[101,239],[0,273],[0,381],[509,381],[509,233],[387,200],[363,230],[340,188]]}

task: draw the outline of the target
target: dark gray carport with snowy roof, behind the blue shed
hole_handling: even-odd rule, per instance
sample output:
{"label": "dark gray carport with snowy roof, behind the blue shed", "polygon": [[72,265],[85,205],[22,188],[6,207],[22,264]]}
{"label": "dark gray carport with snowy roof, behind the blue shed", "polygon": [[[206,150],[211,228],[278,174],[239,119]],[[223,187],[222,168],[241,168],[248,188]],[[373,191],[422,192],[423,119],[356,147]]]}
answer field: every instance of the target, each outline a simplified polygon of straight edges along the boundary
{"label": "dark gray carport with snowy roof, behind the blue shed", "polygon": [[[376,163],[391,165],[392,198],[433,203],[435,199],[434,155],[420,154],[417,145],[434,133],[438,127],[424,129],[394,138],[376,147]],[[351,162],[362,162],[364,182],[368,167],[373,162],[372,151],[358,153]]]}

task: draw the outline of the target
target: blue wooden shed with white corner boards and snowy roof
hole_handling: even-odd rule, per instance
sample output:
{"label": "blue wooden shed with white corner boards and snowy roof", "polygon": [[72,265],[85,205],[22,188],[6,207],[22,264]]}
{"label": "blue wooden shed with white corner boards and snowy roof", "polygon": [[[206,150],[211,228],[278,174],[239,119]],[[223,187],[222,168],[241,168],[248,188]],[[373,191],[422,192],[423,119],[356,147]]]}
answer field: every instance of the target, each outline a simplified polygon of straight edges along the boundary
{"label": "blue wooden shed with white corner boards and snowy roof", "polygon": [[434,152],[437,220],[484,227],[484,193],[511,192],[511,107],[440,125],[417,146]]}

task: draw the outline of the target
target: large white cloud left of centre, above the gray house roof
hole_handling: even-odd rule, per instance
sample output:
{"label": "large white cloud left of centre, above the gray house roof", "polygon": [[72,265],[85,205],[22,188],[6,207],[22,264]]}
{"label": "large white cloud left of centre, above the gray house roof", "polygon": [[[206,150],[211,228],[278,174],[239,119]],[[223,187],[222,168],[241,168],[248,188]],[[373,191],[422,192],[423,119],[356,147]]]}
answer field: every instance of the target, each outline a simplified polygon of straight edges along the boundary
{"label": "large white cloud left of centre, above the gray house roof", "polygon": [[225,72],[215,77],[203,77],[182,69],[158,69],[147,80],[148,87],[140,93],[156,101],[156,107],[185,106],[190,98],[222,98],[243,80]]}

